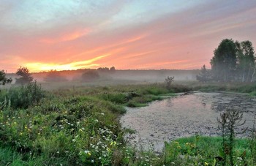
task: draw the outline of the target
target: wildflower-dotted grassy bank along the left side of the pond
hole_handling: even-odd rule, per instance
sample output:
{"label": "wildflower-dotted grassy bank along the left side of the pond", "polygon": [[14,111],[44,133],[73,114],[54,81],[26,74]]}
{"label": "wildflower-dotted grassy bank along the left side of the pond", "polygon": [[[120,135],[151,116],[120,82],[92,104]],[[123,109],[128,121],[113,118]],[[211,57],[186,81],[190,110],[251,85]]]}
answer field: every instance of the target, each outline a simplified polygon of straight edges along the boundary
{"label": "wildflower-dotted grassy bank along the left side of the pond", "polygon": [[124,106],[189,90],[150,84],[49,92],[37,83],[2,90],[1,165],[157,165],[156,154],[126,146],[118,116]]}

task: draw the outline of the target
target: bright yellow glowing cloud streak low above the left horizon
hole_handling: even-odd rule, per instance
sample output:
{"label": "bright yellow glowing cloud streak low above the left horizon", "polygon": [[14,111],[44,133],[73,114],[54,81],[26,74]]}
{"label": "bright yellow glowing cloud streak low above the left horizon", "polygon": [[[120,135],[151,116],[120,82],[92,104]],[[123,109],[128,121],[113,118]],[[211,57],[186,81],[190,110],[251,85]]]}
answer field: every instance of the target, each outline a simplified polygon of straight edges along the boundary
{"label": "bright yellow glowing cloud streak low above the left horizon", "polygon": [[90,68],[90,67],[98,67],[99,64],[95,64],[95,61],[99,59],[103,59],[109,55],[98,56],[94,59],[89,59],[86,61],[75,61],[69,64],[45,64],[45,63],[26,63],[25,66],[28,67],[31,72],[39,72],[39,71],[49,71],[51,69],[60,70],[70,70],[70,69],[82,69],[82,68]]}

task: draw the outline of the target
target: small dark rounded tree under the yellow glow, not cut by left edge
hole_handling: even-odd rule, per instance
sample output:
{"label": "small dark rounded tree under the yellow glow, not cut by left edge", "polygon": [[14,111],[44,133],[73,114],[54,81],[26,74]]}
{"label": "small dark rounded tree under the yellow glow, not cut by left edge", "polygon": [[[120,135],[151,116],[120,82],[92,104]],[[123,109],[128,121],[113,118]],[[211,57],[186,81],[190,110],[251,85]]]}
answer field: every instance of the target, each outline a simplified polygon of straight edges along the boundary
{"label": "small dark rounded tree under the yellow glow, not cut by left edge", "polygon": [[20,78],[16,78],[17,84],[31,83],[34,79],[27,67],[20,67],[15,74],[20,76]]}

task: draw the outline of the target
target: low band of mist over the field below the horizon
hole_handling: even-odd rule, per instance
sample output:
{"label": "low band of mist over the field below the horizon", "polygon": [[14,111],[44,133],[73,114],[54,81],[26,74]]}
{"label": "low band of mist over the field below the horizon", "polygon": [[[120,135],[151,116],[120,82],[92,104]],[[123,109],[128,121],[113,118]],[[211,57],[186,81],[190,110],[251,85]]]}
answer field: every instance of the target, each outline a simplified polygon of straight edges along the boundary
{"label": "low band of mist over the field below the horizon", "polygon": [[[71,71],[59,71],[58,76],[61,78],[67,78],[67,81],[74,81],[79,80],[83,72],[86,69],[80,70],[71,70]],[[194,70],[182,70],[182,69],[161,69],[161,70],[134,70],[134,69],[127,69],[127,70],[116,70],[115,72],[100,72],[99,71],[99,80],[131,80],[140,83],[162,83],[164,82],[167,76],[173,76],[175,80],[196,80],[196,75],[200,72],[199,69]],[[48,75],[48,72],[38,72],[32,73],[35,80],[39,82],[47,82],[45,78]],[[8,77],[17,78],[17,75],[14,74],[7,74]],[[56,77],[57,80],[52,80],[49,82],[58,82],[58,76]],[[61,81],[61,80],[60,80]],[[95,80],[89,80],[89,82],[94,82]],[[96,81],[97,82],[97,81]]]}

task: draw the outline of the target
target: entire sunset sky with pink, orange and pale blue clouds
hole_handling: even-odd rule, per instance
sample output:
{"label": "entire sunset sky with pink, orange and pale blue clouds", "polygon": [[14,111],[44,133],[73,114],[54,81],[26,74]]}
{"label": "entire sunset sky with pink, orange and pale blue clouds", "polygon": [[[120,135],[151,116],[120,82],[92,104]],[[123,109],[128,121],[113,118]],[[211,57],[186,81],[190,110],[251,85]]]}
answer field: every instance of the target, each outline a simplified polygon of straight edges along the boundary
{"label": "entire sunset sky with pink, orange and pale blue clouds", "polygon": [[0,0],[7,72],[211,68],[226,38],[255,47],[255,0]]}

